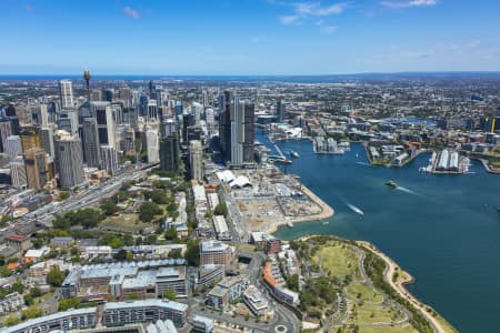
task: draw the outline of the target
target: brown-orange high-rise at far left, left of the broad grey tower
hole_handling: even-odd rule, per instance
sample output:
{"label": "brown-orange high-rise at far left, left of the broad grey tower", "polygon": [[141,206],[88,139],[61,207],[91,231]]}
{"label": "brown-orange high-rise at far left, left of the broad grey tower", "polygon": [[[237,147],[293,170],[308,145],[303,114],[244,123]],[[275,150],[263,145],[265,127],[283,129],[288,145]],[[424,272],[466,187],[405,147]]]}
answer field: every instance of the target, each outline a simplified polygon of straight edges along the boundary
{"label": "brown-orange high-rise at far left, left of the broad grey tower", "polygon": [[28,188],[42,190],[49,180],[46,151],[38,147],[24,150],[24,165]]}

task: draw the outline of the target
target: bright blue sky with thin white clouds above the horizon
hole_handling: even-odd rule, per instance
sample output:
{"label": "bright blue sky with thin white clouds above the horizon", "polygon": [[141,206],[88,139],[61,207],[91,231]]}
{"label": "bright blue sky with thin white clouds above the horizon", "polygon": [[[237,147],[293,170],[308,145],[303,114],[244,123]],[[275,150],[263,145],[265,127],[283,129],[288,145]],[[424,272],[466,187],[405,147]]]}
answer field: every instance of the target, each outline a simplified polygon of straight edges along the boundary
{"label": "bright blue sky with thin white clouds above the horizon", "polygon": [[1,74],[500,70],[498,0],[2,0]]}

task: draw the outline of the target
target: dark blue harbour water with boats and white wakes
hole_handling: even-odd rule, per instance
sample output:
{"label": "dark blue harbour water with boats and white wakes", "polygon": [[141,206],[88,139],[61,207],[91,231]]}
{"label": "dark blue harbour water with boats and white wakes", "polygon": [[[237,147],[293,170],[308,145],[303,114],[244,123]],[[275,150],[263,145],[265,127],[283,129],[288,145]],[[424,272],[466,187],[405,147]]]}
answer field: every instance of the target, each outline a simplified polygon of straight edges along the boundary
{"label": "dark blue harbour water with boats and white wakes", "polygon": [[[261,134],[258,140],[267,142]],[[409,290],[460,332],[500,332],[500,175],[476,161],[469,174],[419,172],[429,154],[401,169],[370,167],[361,144],[344,155],[314,154],[306,140],[279,145],[300,154],[287,171],[336,214],[329,223],[280,228],[277,236],[370,241],[416,278]],[[399,188],[387,186],[388,180]]]}

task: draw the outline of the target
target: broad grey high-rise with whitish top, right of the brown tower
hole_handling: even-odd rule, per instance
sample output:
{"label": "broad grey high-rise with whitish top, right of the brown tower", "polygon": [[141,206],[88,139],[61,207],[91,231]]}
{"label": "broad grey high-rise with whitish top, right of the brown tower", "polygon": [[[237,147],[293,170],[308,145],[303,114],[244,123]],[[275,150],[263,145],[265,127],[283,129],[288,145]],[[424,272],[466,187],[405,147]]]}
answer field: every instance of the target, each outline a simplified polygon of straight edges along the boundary
{"label": "broad grey high-rise with whitish top, right of the brown tower", "polygon": [[61,189],[72,189],[86,180],[83,176],[83,157],[80,138],[78,135],[71,135],[67,131],[57,131],[54,138],[59,186]]}

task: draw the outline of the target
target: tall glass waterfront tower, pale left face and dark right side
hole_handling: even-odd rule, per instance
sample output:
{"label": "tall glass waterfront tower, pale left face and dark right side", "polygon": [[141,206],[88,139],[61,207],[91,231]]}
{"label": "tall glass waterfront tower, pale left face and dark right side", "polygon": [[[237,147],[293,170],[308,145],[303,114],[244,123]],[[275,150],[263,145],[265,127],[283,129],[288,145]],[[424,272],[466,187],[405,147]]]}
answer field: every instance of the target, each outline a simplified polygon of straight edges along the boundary
{"label": "tall glass waterfront tower, pale left face and dark right side", "polygon": [[253,161],[254,105],[236,98],[230,111],[231,165],[242,167]]}

